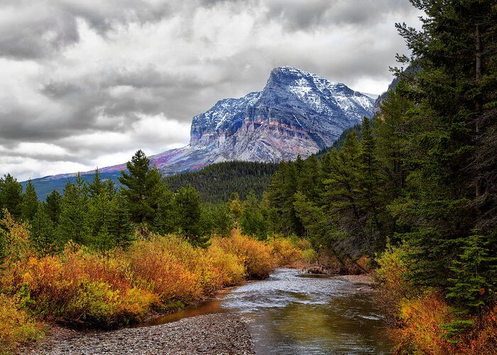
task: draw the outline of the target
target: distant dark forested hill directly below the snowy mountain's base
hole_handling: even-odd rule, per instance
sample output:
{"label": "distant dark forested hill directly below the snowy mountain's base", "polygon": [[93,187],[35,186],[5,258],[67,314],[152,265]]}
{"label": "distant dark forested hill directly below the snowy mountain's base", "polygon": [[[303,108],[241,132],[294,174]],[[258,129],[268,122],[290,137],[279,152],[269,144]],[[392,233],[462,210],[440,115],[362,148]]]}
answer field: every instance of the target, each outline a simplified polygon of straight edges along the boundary
{"label": "distant dark forested hill directly below the snowy mountain's base", "polygon": [[202,201],[219,203],[228,201],[233,192],[244,199],[253,190],[261,198],[276,170],[278,164],[274,163],[229,161],[192,173],[168,176],[165,181],[174,192],[191,185],[200,193]]}

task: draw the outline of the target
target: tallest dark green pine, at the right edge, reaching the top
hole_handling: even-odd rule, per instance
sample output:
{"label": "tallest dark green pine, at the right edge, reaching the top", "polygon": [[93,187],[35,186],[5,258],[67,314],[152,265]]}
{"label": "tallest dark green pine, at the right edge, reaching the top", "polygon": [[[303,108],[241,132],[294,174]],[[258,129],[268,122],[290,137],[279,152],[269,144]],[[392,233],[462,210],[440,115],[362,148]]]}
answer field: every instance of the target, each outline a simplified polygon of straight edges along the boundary
{"label": "tallest dark green pine, at the right edge, reaching the top", "polygon": [[488,271],[491,260],[479,258],[497,254],[497,219],[488,213],[495,211],[489,202],[497,165],[489,162],[496,150],[487,140],[496,126],[497,7],[492,1],[411,2],[427,16],[421,31],[398,25],[413,52],[410,62],[401,60],[422,70],[406,85],[415,103],[403,161],[410,173],[404,196],[389,209],[410,226],[402,234],[410,280],[451,290],[449,301],[474,313],[480,301],[493,302],[476,297],[476,288],[491,284],[495,273],[471,272],[484,264]]}

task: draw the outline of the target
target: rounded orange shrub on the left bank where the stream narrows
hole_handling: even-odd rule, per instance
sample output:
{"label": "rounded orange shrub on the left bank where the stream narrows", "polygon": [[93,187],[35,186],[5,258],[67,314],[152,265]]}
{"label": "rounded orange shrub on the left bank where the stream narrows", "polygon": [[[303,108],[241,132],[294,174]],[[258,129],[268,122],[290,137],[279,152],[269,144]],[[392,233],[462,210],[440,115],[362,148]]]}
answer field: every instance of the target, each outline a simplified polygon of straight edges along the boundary
{"label": "rounded orange shrub on the left bank where the stream narrows", "polygon": [[211,247],[236,256],[247,278],[266,278],[273,268],[271,247],[249,236],[234,233],[229,238],[214,238]]}

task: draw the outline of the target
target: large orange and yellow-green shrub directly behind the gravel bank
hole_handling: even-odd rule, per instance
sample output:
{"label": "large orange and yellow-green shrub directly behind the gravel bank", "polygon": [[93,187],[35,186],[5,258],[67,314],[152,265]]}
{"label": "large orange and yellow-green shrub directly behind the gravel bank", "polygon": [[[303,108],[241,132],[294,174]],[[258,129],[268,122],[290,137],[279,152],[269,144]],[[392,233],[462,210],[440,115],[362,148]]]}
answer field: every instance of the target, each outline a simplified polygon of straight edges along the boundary
{"label": "large orange and yellow-green shrub directly behind the gravel bank", "polygon": [[58,256],[29,258],[26,287],[36,314],[70,324],[117,327],[140,320],[158,296],[133,285],[129,265],[116,256],[68,244]]}

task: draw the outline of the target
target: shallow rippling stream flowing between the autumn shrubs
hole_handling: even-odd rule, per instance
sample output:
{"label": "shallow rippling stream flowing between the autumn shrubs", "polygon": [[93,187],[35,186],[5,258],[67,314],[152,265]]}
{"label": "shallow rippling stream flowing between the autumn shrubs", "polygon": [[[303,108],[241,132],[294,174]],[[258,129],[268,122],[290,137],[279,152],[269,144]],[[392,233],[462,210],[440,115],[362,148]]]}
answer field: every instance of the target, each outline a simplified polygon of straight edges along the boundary
{"label": "shallow rippling stream flowing between the autumn shrubs", "polygon": [[391,354],[393,346],[371,292],[284,268],[154,324],[214,312],[243,314],[257,354]]}

